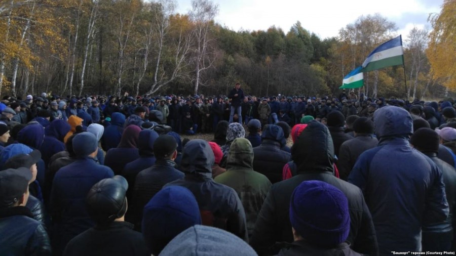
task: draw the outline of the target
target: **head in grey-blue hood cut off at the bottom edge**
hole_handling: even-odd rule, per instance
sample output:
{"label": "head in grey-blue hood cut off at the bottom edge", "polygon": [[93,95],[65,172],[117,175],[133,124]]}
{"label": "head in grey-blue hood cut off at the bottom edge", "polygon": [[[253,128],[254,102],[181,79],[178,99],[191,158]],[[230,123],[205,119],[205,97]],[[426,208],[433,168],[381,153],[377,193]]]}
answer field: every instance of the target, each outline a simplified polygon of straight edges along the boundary
{"label": "head in grey-blue hood cut off at the bottom edge", "polygon": [[250,245],[230,232],[194,225],[172,239],[160,255],[256,256],[257,254]]}

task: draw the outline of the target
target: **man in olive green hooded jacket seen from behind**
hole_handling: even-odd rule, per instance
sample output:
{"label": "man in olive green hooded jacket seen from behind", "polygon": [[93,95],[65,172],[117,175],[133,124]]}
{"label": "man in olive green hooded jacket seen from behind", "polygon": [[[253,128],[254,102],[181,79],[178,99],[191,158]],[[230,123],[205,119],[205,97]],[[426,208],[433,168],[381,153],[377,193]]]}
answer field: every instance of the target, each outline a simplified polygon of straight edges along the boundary
{"label": "man in olive green hooded jacket seen from behind", "polygon": [[250,141],[244,138],[233,141],[228,152],[226,172],[214,180],[233,188],[238,193],[245,209],[250,237],[261,205],[271,187],[271,182],[266,176],[253,170],[253,149]]}

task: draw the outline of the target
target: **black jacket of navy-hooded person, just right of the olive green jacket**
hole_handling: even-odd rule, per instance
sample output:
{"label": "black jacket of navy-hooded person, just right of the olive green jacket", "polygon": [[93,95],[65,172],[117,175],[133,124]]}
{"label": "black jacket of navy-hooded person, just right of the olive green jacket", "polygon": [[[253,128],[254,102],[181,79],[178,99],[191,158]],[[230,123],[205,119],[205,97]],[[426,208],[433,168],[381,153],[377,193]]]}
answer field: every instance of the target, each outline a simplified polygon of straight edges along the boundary
{"label": "black jacket of navy-hooded person, just right of the olive green jacket", "polygon": [[291,155],[280,149],[280,143],[263,139],[261,145],[253,148],[253,170],[265,175],[271,183],[282,181],[283,166]]}

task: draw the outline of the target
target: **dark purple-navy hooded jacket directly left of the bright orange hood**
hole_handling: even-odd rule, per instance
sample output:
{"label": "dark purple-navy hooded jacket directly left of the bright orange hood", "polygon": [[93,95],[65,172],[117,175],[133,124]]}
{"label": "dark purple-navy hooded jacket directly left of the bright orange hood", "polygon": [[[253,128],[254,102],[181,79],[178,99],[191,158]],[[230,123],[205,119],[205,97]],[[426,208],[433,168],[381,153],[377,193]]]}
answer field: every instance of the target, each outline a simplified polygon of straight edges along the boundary
{"label": "dark purple-navy hooded jacket directly left of the bright orange hood", "polygon": [[46,166],[48,166],[51,156],[65,150],[63,138],[70,130],[68,122],[61,119],[55,119],[46,128],[45,138],[40,148],[41,158],[45,161]]}

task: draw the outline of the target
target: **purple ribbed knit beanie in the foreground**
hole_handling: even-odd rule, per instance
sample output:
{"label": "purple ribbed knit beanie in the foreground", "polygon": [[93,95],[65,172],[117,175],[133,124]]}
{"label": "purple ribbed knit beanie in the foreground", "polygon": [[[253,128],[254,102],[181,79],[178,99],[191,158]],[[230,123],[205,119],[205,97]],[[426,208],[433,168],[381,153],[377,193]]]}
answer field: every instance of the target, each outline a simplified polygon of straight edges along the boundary
{"label": "purple ribbed knit beanie in the foreground", "polygon": [[347,197],[325,182],[302,182],[291,195],[290,222],[310,244],[334,247],[350,232]]}

